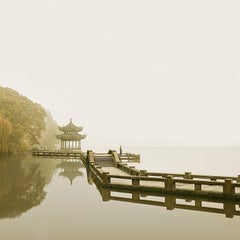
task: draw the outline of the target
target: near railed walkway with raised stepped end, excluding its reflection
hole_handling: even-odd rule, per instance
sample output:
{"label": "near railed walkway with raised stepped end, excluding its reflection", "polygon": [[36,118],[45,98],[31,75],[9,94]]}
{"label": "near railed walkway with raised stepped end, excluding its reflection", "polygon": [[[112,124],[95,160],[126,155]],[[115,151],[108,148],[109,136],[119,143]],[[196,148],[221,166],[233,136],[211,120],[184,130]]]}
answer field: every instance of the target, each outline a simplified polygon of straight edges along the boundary
{"label": "near railed walkway with raised stepped end, excluding its reflection", "polygon": [[240,200],[240,176],[208,176],[155,173],[138,170],[121,162],[116,151],[106,155],[87,152],[82,158],[101,188],[187,197]]}

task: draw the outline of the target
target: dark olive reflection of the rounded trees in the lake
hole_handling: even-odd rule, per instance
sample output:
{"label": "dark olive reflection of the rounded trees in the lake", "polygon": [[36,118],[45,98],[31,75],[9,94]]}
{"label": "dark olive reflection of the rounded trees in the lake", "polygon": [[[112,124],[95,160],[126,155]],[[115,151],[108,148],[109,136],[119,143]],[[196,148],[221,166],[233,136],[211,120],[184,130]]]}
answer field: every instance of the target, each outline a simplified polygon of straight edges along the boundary
{"label": "dark olive reflection of the rounded trees in the lake", "polygon": [[24,169],[21,163],[17,158],[0,159],[0,218],[17,217],[46,196],[39,164],[31,162]]}

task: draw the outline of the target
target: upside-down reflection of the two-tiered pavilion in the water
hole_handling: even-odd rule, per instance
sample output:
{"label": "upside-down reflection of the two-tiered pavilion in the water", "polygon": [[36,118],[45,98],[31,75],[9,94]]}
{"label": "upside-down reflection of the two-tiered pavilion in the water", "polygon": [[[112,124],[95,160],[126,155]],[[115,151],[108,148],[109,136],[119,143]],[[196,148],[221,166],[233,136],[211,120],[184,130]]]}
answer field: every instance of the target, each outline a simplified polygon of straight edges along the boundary
{"label": "upside-down reflection of the two-tiered pavilion in the water", "polygon": [[83,168],[84,165],[79,159],[62,159],[61,163],[59,163],[56,167],[61,168],[62,170],[59,173],[59,176],[68,178],[71,185],[76,177],[83,176],[83,173],[79,171],[79,169]]}

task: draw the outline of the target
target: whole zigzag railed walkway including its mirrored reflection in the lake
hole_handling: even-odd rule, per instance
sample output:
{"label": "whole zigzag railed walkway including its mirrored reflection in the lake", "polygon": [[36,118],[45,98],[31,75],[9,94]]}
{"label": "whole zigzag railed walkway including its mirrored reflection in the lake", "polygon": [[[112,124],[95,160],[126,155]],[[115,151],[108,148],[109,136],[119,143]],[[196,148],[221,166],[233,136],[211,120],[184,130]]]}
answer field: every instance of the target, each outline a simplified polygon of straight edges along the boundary
{"label": "whole zigzag railed walkway including its mirrored reflection in the lake", "polygon": [[127,164],[139,162],[139,155],[120,155],[113,150],[108,153],[42,151],[33,152],[33,156],[81,159],[88,182],[95,183],[103,201],[218,213],[227,218],[240,216],[240,175],[149,172]]}

